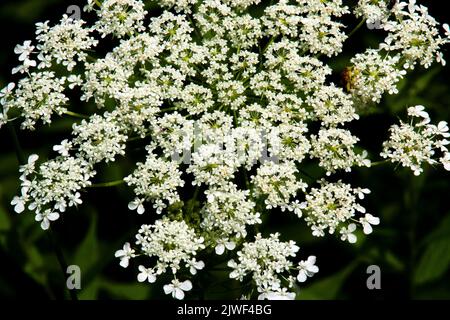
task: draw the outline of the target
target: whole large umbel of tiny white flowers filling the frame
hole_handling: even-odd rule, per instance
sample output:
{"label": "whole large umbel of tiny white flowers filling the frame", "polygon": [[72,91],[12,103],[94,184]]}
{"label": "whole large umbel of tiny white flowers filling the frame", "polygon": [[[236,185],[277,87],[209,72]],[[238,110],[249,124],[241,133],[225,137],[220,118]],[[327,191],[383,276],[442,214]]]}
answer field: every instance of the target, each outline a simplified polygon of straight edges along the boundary
{"label": "whole large umbel of tiny white flowers filling the frame", "polygon": [[[413,0],[392,9],[389,3],[161,0],[165,10],[147,18],[142,1],[89,0],[92,25],[67,16],[38,23],[35,40],[14,50],[19,65],[12,73],[22,78],[1,90],[0,127],[19,118],[22,129],[36,130],[56,115],[85,116],[53,146],[54,158],[31,155],[21,166],[14,210],[34,212],[48,229],[82,204],[99,163],[132,160],[127,143],[149,138],[145,159],[123,182],[134,192],[129,209],[155,212],[157,220],[116,252],[120,265],[140,257],[139,282],[168,274],[173,280],[163,291],[183,299],[195,275],[211,267],[208,255],[217,254],[231,279],[251,279],[255,290],[244,297],[294,299],[295,283],[319,270],[315,256],[298,261],[293,241],[263,237],[256,227],[278,208],[304,219],[314,236],[355,243],[359,230],[370,234],[380,220],[359,203],[370,190],[333,177],[371,166],[345,125],[358,121],[367,104],[398,93],[398,82],[416,66],[445,64],[448,25],[441,32]],[[259,16],[251,14],[256,5]],[[336,70],[321,57],[341,53],[348,38],[341,18],[349,14],[385,39],[351,58],[341,88],[328,79]],[[112,49],[95,58],[103,38]],[[79,102],[69,99],[74,93]],[[447,123],[431,124],[423,106],[407,112],[411,121],[380,133],[389,135],[381,156],[415,175],[426,163],[450,170]],[[266,161],[258,161],[264,153]],[[188,157],[178,161],[175,154]],[[326,175],[308,185],[305,160]],[[181,192],[189,184],[194,199]]]}

